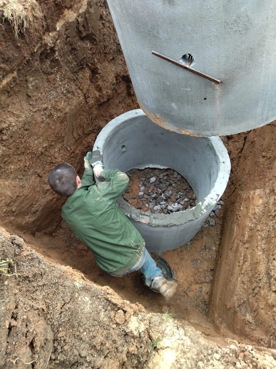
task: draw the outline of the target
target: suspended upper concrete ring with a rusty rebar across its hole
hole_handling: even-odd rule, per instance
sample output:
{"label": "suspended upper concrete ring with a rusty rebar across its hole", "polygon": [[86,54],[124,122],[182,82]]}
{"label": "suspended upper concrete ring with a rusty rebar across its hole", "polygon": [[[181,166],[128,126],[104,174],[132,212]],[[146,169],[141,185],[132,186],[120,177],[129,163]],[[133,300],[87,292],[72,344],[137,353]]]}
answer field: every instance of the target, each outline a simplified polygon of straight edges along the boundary
{"label": "suspended upper concrete ring with a rusty rebar across its hole", "polygon": [[[230,135],[276,118],[276,2],[107,0],[140,107],[191,135]],[[151,54],[186,63],[211,82]],[[187,59],[187,58],[186,58]]]}

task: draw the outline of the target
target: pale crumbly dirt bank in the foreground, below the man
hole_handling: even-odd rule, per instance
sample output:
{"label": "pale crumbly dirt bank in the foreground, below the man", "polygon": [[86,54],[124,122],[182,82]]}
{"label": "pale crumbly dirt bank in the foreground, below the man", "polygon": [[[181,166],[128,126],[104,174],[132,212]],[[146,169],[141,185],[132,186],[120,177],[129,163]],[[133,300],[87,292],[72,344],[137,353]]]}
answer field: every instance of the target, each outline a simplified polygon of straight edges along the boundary
{"label": "pale crumbly dirt bank in the foreground, below the man", "polygon": [[[50,264],[0,231],[0,368],[274,368],[252,346],[217,345],[169,314],[146,314],[109,287]],[[15,270],[16,268],[16,270]],[[223,342],[222,342],[223,343]]]}

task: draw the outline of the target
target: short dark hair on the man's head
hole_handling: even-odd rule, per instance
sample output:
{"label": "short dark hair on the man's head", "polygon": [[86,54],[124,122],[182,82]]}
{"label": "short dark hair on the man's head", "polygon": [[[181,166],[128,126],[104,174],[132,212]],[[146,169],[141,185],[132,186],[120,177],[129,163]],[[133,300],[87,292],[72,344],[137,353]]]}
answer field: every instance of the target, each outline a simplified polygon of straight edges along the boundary
{"label": "short dark hair on the man's head", "polygon": [[60,163],[51,170],[48,182],[51,189],[60,196],[70,196],[78,187],[77,172],[72,165]]}

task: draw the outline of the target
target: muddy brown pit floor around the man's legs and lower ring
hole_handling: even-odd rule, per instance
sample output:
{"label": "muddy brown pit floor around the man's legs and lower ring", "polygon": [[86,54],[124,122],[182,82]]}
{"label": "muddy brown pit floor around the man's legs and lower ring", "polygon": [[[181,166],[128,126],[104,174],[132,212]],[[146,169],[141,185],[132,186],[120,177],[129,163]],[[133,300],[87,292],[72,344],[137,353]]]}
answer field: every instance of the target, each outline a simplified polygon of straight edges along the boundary
{"label": "muddy brown pit floor around the man's legs and lower ring", "polygon": [[[178,280],[178,289],[170,301],[145,287],[139,272],[118,278],[107,276],[95,263],[86,245],[72,235],[65,223],[61,224],[52,236],[40,233],[36,233],[34,237],[22,233],[19,235],[32,249],[44,255],[45,259],[70,266],[92,283],[111,287],[124,300],[138,302],[148,312],[169,311],[182,324],[192,325],[205,335],[219,338],[222,334],[215,332],[208,321],[207,313],[221,238],[222,217],[223,206],[220,214],[214,217],[214,227],[202,228],[188,244],[162,254],[170,263]],[[230,332],[225,332],[223,336],[236,339]]]}

